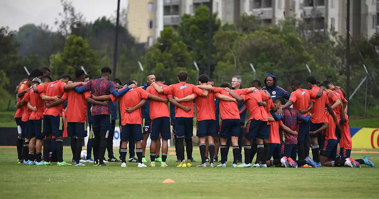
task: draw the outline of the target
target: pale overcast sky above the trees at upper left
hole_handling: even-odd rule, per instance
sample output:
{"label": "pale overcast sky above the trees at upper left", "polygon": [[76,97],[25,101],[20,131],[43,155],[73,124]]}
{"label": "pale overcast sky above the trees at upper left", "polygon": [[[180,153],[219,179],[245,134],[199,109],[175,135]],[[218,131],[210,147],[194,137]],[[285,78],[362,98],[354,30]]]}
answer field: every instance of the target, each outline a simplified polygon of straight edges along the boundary
{"label": "pale overcast sky above the trees at upper left", "polygon": [[[117,0],[71,0],[77,12],[86,21],[101,16],[115,16]],[[120,9],[126,8],[127,0],[121,0]],[[56,30],[54,25],[58,13],[63,12],[60,0],[0,0],[0,27],[8,26],[18,30],[22,25],[45,23]]]}

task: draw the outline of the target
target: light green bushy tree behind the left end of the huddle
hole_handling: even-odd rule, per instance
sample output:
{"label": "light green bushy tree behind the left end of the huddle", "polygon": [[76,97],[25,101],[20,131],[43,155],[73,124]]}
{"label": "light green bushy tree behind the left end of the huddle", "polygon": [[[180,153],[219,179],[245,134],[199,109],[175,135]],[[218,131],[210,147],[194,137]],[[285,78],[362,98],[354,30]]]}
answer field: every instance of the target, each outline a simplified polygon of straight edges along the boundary
{"label": "light green bushy tree behind the left end of the huddle", "polygon": [[80,36],[71,35],[64,44],[63,52],[50,57],[50,70],[54,78],[64,74],[74,78],[75,71],[83,66],[88,75],[95,77],[100,74],[97,63],[96,51],[89,47],[88,41]]}

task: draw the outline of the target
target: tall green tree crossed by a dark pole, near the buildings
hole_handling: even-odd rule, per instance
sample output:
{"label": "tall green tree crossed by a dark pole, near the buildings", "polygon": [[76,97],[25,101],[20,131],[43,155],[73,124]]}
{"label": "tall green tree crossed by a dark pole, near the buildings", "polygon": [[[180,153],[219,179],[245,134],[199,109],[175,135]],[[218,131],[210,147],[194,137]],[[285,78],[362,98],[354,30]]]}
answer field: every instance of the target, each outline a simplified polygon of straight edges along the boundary
{"label": "tall green tree crossed by a dark pole, near the buildings", "polygon": [[[221,21],[217,18],[217,13],[212,16],[212,36],[216,34],[221,27]],[[200,69],[200,74],[207,73],[207,56],[208,56],[208,33],[209,33],[209,8],[200,6],[196,9],[193,16],[184,14],[178,26],[180,40],[183,41],[191,54],[194,61]],[[211,52],[216,53],[216,48],[212,44]],[[216,63],[213,59],[211,63]],[[211,68],[211,74],[214,68]]]}

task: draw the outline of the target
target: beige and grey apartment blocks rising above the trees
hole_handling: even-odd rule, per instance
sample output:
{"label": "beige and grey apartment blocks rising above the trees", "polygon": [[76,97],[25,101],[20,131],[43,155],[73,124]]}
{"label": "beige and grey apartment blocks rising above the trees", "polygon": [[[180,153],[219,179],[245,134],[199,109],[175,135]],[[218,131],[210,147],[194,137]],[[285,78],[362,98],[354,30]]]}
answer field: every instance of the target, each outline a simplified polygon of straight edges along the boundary
{"label": "beige and grey apartment blocks rising above the trees", "polygon": [[[212,6],[223,24],[236,23],[241,14],[252,14],[265,24],[296,18],[305,23],[317,20],[316,29],[346,34],[346,0],[129,0],[128,29],[137,42],[151,46],[163,30],[175,30],[183,14],[194,14],[199,6]],[[350,33],[369,38],[379,31],[378,0],[350,1]]]}

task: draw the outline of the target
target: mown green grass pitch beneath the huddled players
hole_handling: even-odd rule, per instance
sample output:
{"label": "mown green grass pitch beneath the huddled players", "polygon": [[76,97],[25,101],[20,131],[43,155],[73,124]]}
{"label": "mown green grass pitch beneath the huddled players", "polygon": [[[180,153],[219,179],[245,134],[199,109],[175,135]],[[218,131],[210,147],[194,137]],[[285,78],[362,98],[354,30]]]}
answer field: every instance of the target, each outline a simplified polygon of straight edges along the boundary
{"label": "mown green grass pitch beneath the huddled players", "polygon": [[[194,147],[194,158],[200,160],[196,149]],[[118,154],[117,149],[114,151]],[[173,149],[169,152],[173,152]],[[148,151],[146,154],[149,154]],[[379,163],[379,153],[352,153],[353,158],[364,155],[370,155],[374,163]],[[70,148],[64,147],[64,159],[68,162],[71,157]],[[229,157],[232,158],[231,152]],[[19,165],[16,164],[16,158],[16,148],[0,148],[2,198],[379,197],[379,169],[367,166],[176,168],[175,155],[169,155],[169,168],[137,168],[136,163],[127,163],[127,168],[121,168],[120,163],[109,163],[109,167],[94,167],[91,164],[84,167],[58,167]],[[172,179],[175,183],[162,183],[165,179]]]}

